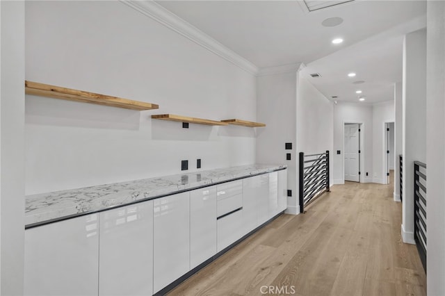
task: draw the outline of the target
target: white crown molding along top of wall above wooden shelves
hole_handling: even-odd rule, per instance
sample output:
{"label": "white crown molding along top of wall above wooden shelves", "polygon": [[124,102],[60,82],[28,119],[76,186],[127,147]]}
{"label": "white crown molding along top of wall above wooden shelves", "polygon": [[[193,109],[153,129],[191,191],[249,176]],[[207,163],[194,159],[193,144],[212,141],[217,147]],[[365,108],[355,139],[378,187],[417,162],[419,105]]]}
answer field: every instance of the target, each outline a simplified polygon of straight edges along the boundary
{"label": "white crown molding along top of wall above wooden shelves", "polygon": [[163,6],[159,5],[158,3],[154,1],[120,1],[143,15],[154,19],[156,22],[163,24],[163,26],[166,26],[167,28],[170,28],[171,30],[183,35],[196,44],[199,44],[205,49],[213,52],[213,54],[217,54],[221,58],[228,60],[230,63],[240,67],[246,72],[255,76],[258,74],[259,68],[256,65],[239,56],[231,49],[228,49],[220,42],[200,31],[200,29],[186,22],[184,19],[181,19],[181,17],[178,17],[174,13],[170,12],[170,10],[163,8]]}

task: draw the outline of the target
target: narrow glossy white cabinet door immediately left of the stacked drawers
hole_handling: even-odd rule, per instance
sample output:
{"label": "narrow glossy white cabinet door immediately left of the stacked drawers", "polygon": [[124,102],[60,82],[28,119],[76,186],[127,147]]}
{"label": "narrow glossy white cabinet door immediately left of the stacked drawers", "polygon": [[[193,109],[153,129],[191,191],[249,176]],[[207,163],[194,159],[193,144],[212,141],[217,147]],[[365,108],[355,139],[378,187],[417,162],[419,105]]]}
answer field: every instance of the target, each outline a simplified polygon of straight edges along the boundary
{"label": "narrow glossy white cabinet door immediately left of the stacked drawers", "polygon": [[190,269],[216,254],[216,186],[190,192]]}

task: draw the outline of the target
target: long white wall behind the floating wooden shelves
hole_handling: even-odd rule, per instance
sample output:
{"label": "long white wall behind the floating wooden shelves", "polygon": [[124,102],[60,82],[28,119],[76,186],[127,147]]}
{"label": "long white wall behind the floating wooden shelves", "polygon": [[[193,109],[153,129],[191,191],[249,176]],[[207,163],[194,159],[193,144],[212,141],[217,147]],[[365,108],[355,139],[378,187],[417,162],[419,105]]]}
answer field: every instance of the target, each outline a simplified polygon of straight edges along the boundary
{"label": "long white wall behind the floating wooden shelves", "polygon": [[160,105],[26,96],[27,195],[255,161],[255,129],[150,115],[255,121],[256,78],[121,2],[27,1],[26,79]]}

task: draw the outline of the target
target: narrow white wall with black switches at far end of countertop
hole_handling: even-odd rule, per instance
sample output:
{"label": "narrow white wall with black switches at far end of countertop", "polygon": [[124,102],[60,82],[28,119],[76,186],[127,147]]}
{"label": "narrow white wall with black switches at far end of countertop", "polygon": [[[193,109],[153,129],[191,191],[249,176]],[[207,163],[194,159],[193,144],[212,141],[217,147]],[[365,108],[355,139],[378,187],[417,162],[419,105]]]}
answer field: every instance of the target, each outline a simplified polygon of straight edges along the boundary
{"label": "narrow white wall with black switches at far end of countertop", "polygon": [[[266,128],[257,131],[257,163],[286,163],[287,188],[292,197],[287,199],[287,213],[298,214],[298,151],[296,151],[297,69],[292,72],[259,76],[257,78],[257,118]],[[285,143],[292,150],[285,150]],[[291,153],[291,161],[286,154]]]}

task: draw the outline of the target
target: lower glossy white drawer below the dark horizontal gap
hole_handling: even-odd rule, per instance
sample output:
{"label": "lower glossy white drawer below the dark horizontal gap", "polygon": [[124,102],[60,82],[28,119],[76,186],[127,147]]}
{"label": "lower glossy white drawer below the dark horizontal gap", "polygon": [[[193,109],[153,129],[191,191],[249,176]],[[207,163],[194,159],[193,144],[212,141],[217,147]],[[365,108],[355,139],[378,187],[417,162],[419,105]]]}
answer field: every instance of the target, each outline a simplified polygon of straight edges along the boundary
{"label": "lower glossy white drawer below the dark horizontal gap", "polygon": [[243,209],[236,211],[225,217],[221,217],[217,224],[217,246],[218,252],[232,243],[236,242],[242,236],[243,231]]}

